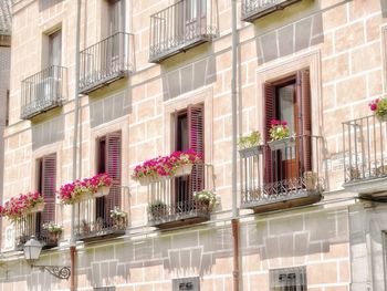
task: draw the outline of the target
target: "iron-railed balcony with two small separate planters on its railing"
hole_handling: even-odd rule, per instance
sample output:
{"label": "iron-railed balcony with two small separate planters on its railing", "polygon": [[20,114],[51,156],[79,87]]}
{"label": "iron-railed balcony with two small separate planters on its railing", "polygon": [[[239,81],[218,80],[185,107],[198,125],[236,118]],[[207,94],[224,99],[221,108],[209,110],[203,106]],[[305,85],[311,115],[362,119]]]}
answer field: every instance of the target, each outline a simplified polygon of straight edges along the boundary
{"label": "iron-railed balcony with two small separate planters on its railing", "polygon": [[241,208],[260,214],[320,201],[323,142],[297,136],[240,150]]}

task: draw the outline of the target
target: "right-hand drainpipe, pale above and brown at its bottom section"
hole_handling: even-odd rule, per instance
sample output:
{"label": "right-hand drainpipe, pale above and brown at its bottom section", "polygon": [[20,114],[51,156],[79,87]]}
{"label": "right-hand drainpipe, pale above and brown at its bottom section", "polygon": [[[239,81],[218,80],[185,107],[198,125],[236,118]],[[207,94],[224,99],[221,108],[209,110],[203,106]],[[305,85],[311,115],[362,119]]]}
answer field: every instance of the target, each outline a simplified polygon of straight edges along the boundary
{"label": "right-hand drainpipe, pale above and brown at its bottom section", "polygon": [[233,237],[233,290],[239,291],[239,212],[237,207],[237,0],[232,0],[232,80],[231,80],[231,107],[232,107],[232,237]]}

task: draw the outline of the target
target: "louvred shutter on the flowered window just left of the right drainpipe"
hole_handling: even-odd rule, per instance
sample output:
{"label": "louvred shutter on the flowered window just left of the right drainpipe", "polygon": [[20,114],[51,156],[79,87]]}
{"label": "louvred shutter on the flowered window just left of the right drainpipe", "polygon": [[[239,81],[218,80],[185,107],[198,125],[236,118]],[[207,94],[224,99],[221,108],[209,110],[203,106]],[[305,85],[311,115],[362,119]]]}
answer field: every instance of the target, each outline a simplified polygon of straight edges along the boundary
{"label": "louvred shutter on the flowered window just left of the right drainpipe", "polygon": [[[202,104],[188,106],[189,148],[200,153],[205,160],[205,108]],[[189,195],[205,188],[203,165],[197,165],[190,176]]]}

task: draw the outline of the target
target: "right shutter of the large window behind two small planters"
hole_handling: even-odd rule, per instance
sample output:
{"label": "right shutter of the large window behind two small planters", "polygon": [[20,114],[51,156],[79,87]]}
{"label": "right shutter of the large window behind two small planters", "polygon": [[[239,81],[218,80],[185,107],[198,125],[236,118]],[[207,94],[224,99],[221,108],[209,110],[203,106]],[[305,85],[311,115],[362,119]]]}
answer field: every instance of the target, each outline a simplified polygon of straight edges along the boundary
{"label": "right shutter of the large window behind two small planters", "polygon": [[312,121],[311,121],[311,81],[307,70],[299,71],[296,74],[297,102],[299,107],[299,128],[300,139],[299,150],[302,168],[300,176],[306,170],[312,169]]}

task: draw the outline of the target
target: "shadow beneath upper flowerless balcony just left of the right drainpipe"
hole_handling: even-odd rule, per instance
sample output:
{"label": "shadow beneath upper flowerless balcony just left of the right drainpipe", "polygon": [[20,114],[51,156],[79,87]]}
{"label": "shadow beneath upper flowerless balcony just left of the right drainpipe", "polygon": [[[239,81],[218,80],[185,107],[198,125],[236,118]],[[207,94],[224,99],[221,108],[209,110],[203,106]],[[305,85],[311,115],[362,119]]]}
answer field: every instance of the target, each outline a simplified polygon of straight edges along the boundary
{"label": "shadow beneath upper flowerless balcony just left of the right drainpipe", "polygon": [[[200,60],[195,61],[194,58]],[[178,69],[174,66],[174,64],[181,64],[186,60],[189,60],[189,64]],[[187,53],[179,53],[163,62],[164,101],[216,82],[216,66],[211,43],[190,49]]]}

